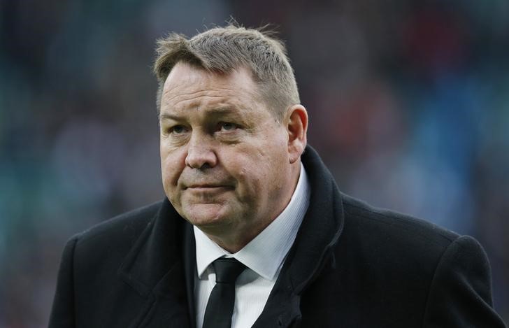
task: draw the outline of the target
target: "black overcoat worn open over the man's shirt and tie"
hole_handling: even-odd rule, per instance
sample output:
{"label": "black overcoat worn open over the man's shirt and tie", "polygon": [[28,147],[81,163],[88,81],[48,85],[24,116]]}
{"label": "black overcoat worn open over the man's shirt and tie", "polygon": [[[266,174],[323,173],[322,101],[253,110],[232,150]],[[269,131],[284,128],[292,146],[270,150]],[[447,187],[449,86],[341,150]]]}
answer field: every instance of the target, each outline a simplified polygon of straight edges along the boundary
{"label": "black overcoat worn open over the man's shirt and tie", "polygon": [[[342,194],[312,148],[310,206],[254,327],[504,327],[475,239]],[[194,235],[167,199],[67,243],[50,327],[194,327]]]}

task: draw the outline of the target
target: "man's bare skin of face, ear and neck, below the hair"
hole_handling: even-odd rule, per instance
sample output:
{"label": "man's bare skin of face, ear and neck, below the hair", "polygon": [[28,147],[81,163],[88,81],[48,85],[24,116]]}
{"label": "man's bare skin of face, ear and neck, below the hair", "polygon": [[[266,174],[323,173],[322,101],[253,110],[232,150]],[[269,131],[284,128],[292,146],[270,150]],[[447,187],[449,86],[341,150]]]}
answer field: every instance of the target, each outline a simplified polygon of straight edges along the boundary
{"label": "man's bare skin of face, ear and neck, below the hair", "polygon": [[276,120],[247,69],[210,73],[176,64],[161,102],[166,196],[178,213],[237,252],[287,206],[306,147],[308,115],[289,106]]}

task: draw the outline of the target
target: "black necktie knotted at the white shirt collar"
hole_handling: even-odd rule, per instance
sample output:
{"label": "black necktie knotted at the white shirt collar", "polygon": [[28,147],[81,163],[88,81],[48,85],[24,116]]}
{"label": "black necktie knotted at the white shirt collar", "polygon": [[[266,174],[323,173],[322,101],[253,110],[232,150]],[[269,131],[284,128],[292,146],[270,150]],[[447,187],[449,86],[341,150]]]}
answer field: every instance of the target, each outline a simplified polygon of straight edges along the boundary
{"label": "black necktie knotted at the white shirt collar", "polygon": [[203,328],[230,328],[235,304],[235,280],[244,271],[245,265],[226,257],[216,259],[212,265],[215,286],[208,298]]}

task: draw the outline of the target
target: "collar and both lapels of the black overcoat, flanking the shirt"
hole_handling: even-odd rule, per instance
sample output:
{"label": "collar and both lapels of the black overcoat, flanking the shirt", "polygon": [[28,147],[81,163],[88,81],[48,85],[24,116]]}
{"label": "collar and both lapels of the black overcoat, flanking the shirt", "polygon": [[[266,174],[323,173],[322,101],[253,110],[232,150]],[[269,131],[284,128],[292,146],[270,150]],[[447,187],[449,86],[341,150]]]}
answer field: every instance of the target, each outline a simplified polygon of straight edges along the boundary
{"label": "collar and both lapels of the black overcoat, flanking the shirt", "polygon": [[[299,321],[300,296],[334,256],[331,248],[343,231],[343,202],[334,178],[310,146],[302,162],[310,181],[310,206],[254,327],[273,327],[274,320],[280,327]],[[185,317],[180,327],[194,327],[194,247],[192,225],[165,199],[118,271],[147,299],[133,327],[171,327],[168,311],[176,311],[173,318]]]}

